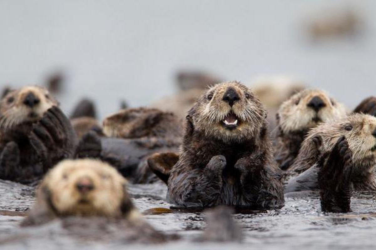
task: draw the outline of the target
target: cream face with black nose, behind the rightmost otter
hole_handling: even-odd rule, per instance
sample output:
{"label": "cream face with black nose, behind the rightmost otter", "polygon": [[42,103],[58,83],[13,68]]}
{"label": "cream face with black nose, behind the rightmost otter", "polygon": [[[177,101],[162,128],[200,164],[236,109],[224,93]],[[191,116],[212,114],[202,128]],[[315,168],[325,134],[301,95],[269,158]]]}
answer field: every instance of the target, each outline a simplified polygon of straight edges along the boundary
{"label": "cream face with black nose, behind the rightmost otter", "polygon": [[303,90],[282,103],[279,126],[289,133],[346,117],[346,108],[321,90]]}

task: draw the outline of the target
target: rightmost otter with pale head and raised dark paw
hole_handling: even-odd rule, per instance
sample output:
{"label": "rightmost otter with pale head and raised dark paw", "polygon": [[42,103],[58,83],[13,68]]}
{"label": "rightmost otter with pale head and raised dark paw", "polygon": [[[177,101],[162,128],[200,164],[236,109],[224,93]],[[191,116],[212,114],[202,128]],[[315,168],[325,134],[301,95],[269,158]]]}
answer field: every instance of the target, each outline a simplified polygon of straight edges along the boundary
{"label": "rightmost otter with pale head and raised dark paw", "polygon": [[324,210],[346,212],[350,189],[376,190],[375,166],[376,118],[352,114],[309,132],[287,172],[293,178],[285,191],[320,189]]}

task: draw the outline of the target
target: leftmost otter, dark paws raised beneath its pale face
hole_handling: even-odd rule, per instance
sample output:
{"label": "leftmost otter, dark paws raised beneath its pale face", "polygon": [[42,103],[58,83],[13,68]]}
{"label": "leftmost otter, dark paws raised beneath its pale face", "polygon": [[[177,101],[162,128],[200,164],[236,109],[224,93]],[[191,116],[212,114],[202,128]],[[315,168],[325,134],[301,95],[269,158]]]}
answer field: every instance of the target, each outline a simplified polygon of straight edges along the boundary
{"label": "leftmost otter, dark paws raised beneath its pale face", "polygon": [[29,183],[73,155],[76,135],[42,87],[10,91],[0,101],[0,178]]}

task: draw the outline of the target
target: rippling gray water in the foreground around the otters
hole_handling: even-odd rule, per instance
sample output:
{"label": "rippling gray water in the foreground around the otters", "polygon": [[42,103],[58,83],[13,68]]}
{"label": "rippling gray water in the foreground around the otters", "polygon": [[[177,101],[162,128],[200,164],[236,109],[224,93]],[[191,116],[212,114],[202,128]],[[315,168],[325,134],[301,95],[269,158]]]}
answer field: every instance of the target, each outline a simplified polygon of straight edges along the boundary
{"label": "rippling gray water in the foreground around the otters", "polygon": [[[0,183],[4,193],[12,193],[17,201],[9,204],[9,196],[0,196],[0,209],[24,210],[33,199],[25,187],[9,182]],[[162,199],[166,188],[161,184],[131,185],[130,193],[141,211],[169,205]],[[27,190],[27,187],[26,187]],[[161,245],[124,245],[118,242],[92,243],[73,240],[62,233],[60,224],[49,223],[40,228],[20,229],[21,216],[0,216],[1,238],[21,235],[20,240],[10,241],[4,249],[374,249],[376,228],[376,192],[358,192],[352,198],[352,213],[324,214],[317,197],[287,197],[280,210],[259,213],[234,214],[244,232],[242,243],[195,243],[206,222],[203,213],[175,211],[159,215],[146,215],[147,221],[167,234],[179,234],[182,239]],[[2,212],[3,213],[3,212]],[[35,237],[23,239],[22,235]]]}

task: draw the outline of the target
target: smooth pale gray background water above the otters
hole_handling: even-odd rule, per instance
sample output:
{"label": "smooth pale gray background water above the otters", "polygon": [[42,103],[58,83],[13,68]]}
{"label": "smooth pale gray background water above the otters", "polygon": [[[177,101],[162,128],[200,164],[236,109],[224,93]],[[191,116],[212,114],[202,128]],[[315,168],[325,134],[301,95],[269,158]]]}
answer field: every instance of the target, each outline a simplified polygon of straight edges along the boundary
{"label": "smooth pale gray background water above the otters", "polygon": [[[312,43],[307,16],[343,6],[364,20],[361,33]],[[121,99],[173,94],[179,69],[246,83],[288,74],[352,108],[374,94],[375,14],[373,0],[2,0],[0,84],[41,84],[61,70],[63,109],[89,96],[103,118]]]}

